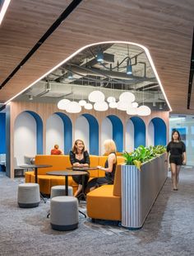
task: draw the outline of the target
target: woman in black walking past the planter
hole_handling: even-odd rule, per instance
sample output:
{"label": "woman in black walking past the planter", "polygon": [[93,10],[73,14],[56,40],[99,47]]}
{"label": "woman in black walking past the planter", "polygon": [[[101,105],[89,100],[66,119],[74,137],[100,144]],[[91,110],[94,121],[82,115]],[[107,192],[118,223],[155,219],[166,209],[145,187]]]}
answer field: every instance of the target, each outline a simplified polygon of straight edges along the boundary
{"label": "woman in black walking past the planter", "polygon": [[[169,155],[170,154],[170,155]],[[173,130],[172,139],[167,145],[167,159],[170,164],[173,190],[178,190],[178,178],[182,164],[186,164],[186,147],[178,130]]]}

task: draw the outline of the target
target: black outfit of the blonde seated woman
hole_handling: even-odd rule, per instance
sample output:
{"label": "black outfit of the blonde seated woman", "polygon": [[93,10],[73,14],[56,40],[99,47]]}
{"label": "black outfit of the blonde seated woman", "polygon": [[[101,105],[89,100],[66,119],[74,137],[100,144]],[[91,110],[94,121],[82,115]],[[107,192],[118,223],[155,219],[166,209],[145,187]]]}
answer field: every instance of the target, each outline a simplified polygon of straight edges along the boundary
{"label": "black outfit of the blonde seated woman", "polygon": [[[115,152],[111,152],[110,154],[115,154],[116,156],[116,163],[113,164],[113,170],[111,173],[109,172],[105,172],[105,176],[104,177],[99,177],[99,178],[93,178],[89,183],[88,183],[88,187],[99,187],[100,185],[104,185],[104,184],[113,184],[114,181],[114,175],[115,175],[115,171],[117,168],[117,155]],[[104,164],[104,168],[109,168],[109,162],[108,159],[106,160],[105,164]]]}

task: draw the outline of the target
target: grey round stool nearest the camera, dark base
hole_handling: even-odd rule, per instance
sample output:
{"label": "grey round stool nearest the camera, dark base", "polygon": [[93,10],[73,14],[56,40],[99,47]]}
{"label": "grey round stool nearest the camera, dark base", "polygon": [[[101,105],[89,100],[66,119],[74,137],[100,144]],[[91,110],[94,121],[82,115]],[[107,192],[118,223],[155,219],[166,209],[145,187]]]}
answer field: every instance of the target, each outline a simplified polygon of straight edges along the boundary
{"label": "grey round stool nearest the camera, dark base", "polygon": [[76,197],[53,197],[50,201],[50,224],[53,230],[75,230],[78,226]]}

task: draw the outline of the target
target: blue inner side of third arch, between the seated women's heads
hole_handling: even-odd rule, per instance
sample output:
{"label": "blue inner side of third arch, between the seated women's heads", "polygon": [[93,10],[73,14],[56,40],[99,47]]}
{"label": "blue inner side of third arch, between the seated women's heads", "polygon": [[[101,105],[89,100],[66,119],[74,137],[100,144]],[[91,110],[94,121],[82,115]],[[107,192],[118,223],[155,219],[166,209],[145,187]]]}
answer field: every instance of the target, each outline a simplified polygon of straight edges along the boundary
{"label": "blue inner side of third arch, between the seated women's heads", "polygon": [[94,116],[90,114],[83,114],[88,123],[90,129],[90,154],[99,154],[99,123]]}

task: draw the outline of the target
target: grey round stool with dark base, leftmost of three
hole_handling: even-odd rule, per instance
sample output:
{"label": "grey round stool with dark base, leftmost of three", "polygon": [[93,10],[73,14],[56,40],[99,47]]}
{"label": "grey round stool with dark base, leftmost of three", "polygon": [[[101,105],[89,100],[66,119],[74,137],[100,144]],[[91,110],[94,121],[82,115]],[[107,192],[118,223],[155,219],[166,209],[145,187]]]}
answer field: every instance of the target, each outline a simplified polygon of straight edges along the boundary
{"label": "grey round stool with dark base, leftmost of three", "polygon": [[18,185],[17,202],[21,208],[39,206],[39,184],[22,183]]}

